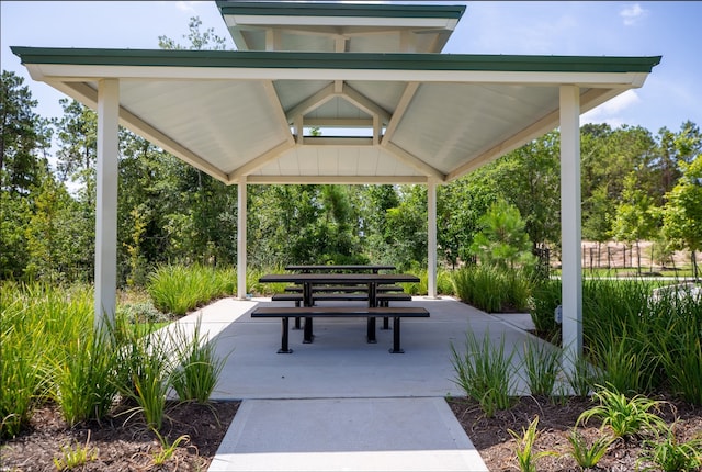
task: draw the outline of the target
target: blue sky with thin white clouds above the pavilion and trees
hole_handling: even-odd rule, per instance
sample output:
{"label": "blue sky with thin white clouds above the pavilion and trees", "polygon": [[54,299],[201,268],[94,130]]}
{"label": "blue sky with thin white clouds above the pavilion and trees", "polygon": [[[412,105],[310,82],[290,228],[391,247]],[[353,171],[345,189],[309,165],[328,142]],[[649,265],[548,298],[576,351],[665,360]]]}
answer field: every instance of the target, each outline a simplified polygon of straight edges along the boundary
{"label": "blue sky with thin white clouds above the pavilion and trees", "polygon": [[[407,3],[407,2],[405,2]],[[430,3],[423,1],[421,3]],[[444,47],[450,54],[663,56],[643,88],[581,116],[581,123],[679,131],[702,126],[702,1],[442,1],[466,11]],[[10,46],[158,48],[165,35],[188,45],[192,16],[235,48],[214,1],[0,1],[2,69],[25,78],[35,109],[63,114],[65,95],[33,81]]]}

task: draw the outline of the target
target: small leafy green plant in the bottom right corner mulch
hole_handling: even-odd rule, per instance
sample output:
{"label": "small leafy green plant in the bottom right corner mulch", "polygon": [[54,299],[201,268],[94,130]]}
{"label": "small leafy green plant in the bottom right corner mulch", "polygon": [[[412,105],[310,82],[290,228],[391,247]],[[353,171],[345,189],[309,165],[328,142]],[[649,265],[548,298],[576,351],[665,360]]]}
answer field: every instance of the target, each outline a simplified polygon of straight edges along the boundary
{"label": "small leafy green plant in the bottom right corner mulch", "polygon": [[[645,471],[663,470],[664,472],[695,472],[702,468],[702,438],[680,441],[675,434],[675,424],[665,428],[665,438],[645,440],[645,451],[641,459],[648,460],[655,467],[643,468]],[[641,462],[639,459],[639,462]]]}

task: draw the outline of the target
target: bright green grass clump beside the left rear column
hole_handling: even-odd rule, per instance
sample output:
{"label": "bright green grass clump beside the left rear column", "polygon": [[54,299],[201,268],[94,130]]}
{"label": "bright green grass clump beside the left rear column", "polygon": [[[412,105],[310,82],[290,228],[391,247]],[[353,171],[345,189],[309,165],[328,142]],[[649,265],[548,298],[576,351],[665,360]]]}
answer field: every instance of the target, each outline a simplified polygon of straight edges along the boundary
{"label": "bright green grass clump beside the left rear column", "polygon": [[182,316],[203,303],[235,293],[233,269],[205,266],[161,266],[149,277],[147,292],[162,312]]}

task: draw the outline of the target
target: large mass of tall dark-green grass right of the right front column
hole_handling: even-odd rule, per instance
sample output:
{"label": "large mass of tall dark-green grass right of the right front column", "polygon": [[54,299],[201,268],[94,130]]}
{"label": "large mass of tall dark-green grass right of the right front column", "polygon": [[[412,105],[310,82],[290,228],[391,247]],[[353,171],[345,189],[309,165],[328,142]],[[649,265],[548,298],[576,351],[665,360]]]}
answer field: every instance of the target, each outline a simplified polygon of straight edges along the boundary
{"label": "large mass of tall dark-green grass right of the right front column", "polygon": [[702,401],[702,304],[688,289],[641,281],[584,284],[584,339],[607,382],[622,392],[669,389]]}

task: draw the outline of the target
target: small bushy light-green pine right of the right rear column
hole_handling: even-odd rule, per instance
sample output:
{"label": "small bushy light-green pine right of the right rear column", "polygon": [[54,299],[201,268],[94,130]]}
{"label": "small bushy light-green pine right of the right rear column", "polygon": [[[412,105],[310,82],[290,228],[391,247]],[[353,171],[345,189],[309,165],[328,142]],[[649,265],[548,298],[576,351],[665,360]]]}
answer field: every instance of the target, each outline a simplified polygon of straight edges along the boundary
{"label": "small bushy light-green pine right of the right rear column", "polygon": [[516,206],[500,199],[480,218],[480,225],[472,250],[482,263],[502,269],[534,263],[525,223]]}

